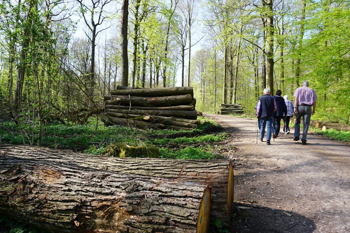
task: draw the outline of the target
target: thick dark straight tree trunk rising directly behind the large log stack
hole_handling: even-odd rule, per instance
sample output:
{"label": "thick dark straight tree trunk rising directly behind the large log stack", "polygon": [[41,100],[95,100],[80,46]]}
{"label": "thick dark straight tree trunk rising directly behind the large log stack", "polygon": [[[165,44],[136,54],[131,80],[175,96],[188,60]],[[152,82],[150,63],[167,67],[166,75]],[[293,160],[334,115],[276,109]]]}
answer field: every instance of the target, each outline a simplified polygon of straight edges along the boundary
{"label": "thick dark straight tree trunk rising directly behind the large log stack", "polygon": [[121,7],[121,85],[128,86],[129,61],[128,61],[128,15],[129,0],[123,0]]}

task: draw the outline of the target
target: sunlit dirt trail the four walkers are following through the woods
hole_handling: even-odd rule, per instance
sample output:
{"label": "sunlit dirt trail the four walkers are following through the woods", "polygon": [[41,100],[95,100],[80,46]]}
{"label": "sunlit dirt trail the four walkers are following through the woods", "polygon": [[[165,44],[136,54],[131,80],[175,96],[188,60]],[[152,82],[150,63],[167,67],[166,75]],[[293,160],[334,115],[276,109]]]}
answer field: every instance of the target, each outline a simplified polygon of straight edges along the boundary
{"label": "sunlit dirt trail the four walkers are following through the woods", "polygon": [[248,209],[236,208],[230,232],[350,233],[348,144],[309,133],[301,145],[293,128],[257,144],[255,120],[203,115],[233,136],[226,155],[235,160],[236,207]]}

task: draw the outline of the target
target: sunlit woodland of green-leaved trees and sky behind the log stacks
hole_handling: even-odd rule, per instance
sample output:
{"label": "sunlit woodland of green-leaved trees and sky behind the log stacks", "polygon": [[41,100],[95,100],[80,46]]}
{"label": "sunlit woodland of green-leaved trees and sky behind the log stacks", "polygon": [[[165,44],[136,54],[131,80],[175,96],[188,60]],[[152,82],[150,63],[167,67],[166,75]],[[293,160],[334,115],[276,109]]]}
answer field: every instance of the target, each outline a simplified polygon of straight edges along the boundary
{"label": "sunlit woodland of green-leaved trees and sky behind the log stacks", "polygon": [[1,0],[0,126],[40,145],[49,122],[84,124],[125,83],[193,86],[198,110],[253,114],[264,88],[293,100],[303,80],[315,118],[349,124],[349,15],[345,0]]}

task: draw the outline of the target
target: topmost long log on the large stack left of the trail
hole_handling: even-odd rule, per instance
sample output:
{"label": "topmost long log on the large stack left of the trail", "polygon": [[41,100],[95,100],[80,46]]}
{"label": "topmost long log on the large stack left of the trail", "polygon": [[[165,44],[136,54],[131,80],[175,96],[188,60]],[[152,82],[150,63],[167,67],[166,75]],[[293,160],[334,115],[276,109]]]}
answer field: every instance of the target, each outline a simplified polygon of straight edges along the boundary
{"label": "topmost long log on the large stack left of the trail", "polygon": [[142,88],[142,89],[124,89],[111,90],[111,95],[130,95],[130,96],[172,96],[172,95],[191,95],[193,98],[193,87],[163,87],[163,88]]}

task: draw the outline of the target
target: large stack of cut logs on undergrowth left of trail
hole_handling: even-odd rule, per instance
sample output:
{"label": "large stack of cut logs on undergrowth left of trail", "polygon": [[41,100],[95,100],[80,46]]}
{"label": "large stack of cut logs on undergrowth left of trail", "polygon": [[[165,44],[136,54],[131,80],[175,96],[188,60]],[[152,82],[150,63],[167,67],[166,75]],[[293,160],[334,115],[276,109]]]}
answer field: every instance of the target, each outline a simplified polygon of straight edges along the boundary
{"label": "large stack of cut logs on undergrowth left of trail", "polygon": [[193,87],[118,87],[104,96],[108,121],[139,128],[189,130],[197,127]]}

